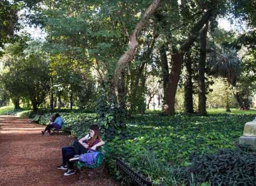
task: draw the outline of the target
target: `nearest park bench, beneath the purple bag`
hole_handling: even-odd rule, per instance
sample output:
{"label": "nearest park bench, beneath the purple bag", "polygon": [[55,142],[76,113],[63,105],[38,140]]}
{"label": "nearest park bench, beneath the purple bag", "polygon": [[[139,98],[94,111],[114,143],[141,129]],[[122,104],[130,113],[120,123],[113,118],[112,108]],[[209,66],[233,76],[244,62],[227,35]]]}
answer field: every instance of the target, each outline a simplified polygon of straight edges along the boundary
{"label": "nearest park bench, beneath the purple bag", "polygon": [[81,181],[84,177],[87,177],[87,176],[102,177],[102,173],[105,168],[104,159],[105,159],[104,154],[100,153],[99,157],[97,158],[96,164],[94,165],[89,165],[81,161],[76,161],[75,165],[79,173],[79,181]]}

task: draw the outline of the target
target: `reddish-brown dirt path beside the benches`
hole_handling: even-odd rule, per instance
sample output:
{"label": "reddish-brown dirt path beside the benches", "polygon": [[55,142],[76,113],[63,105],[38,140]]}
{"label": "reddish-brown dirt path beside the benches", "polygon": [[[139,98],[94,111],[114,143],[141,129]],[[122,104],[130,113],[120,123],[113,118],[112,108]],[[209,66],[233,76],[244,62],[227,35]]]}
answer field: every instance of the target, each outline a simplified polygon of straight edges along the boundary
{"label": "reddish-brown dirt path beside the benches", "polygon": [[[72,142],[66,135],[42,136],[44,126],[14,116],[0,116],[0,186],[77,186],[78,175],[65,176],[61,147]],[[117,186],[108,175],[87,178],[80,185]]]}

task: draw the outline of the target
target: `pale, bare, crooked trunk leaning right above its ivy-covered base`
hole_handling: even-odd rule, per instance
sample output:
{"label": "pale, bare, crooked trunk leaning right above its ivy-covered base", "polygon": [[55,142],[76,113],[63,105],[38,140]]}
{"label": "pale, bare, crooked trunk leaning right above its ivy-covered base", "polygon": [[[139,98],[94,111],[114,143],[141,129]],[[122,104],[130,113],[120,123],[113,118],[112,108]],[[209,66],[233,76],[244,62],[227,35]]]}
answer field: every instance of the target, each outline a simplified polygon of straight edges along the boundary
{"label": "pale, bare, crooked trunk leaning right above its ivy-covered base", "polygon": [[151,14],[154,13],[154,11],[156,11],[159,5],[160,0],[153,0],[150,6],[148,6],[148,8],[145,10],[139,23],[137,23],[137,25],[135,26],[135,29],[129,35],[128,49],[125,54],[123,54],[119,58],[115,72],[111,78],[112,94],[115,94],[116,88],[119,85],[119,77],[121,75],[121,72],[126,67],[127,63],[131,60],[131,57],[133,56],[135,49],[138,46],[137,35],[140,33],[140,30],[146,25],[149,17],[151,16]]}

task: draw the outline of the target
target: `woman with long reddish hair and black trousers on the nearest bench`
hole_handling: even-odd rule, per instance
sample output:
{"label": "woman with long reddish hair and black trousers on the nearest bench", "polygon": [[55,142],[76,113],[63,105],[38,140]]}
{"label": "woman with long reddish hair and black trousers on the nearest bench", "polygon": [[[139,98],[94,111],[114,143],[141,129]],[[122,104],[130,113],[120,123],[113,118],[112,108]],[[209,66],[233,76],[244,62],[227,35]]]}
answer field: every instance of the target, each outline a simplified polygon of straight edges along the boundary
{"label": "woman with long reddish hair and black trousers on the nearest bench", "polygon": [[80,140],[74,142],[74,146],[63,147],[62,150],[62,165],[58,166],[57,169],[67,170],[64,176],[70,176],[75,174],[74,163],[70,161],[75,155],[81,155],[86,153],[88,150],[98,150],[100,146],[104,145],[105,142],[101,139],[99,126],[91,125],[89,134],[82,137]]}

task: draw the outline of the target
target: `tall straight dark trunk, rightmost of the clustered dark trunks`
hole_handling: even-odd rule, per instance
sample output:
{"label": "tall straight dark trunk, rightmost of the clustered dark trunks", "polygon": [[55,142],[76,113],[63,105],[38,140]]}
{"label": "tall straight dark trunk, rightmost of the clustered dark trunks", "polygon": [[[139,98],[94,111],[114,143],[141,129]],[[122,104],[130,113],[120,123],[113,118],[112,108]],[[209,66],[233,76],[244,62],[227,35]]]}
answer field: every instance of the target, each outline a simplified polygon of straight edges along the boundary
{"label": "tall straight dark trunk, rightmost of the clustered dark trunks", "polygon": [[206,63],[206,46],[207,46],[208,22],[201,33],[200,61],[198,65],[198,113],[205,116],[206,112],[206,95],[205,95],[205,63]]}

